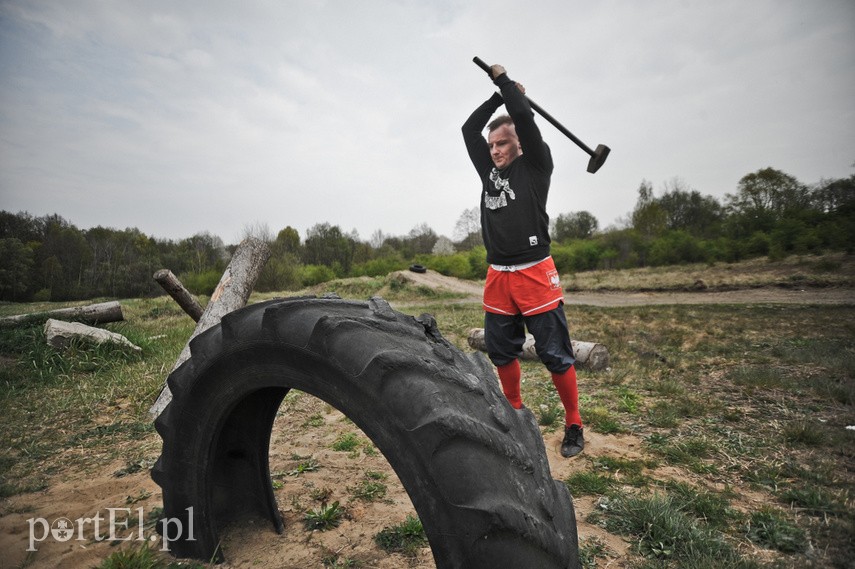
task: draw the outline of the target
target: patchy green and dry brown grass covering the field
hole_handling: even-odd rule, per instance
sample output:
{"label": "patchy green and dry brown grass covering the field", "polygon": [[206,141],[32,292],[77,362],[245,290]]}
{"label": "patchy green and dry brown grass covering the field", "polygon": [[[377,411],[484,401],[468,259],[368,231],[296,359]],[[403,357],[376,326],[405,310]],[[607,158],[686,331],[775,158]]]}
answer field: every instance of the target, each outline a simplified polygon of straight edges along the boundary
{"label": "patchy green and dry brown grass covering the field", "polygon": [[[852,266],[848,258],[792,259],[586,273],[572,282],[588,290],[675,290],[694,283],[697,272],[712,288],[769,286],[795,282],[789,271],[805,277],[799,286],[851,287]],[[334,288],[345,297],[364,299],[379,291],[404,312],[433,314],[443,335],[464,351],[468,330],[483,325],[479,306],[424,295],[406,284],[394,291],[385,281],[341,285]],[[109,461],[118,463],[116,476],[131,475],[157,459],[160,438],[147,409],[194,325],[170,299],[122,305],[126,322],[105,327],[140,345],[141,355],[84,344],[61,353],[44,345],[40,326],[0,330],[0,497],[23,498],[4,506],[3,514],[37,505],[38,495],[30,493],[49,489],[70,472],[96,473]],[[56,307],[0,305],[0,315]],[[599,500],[593,523],[633,544],[621,563],[634,569],[767,563],[824,569],[855,558],[855,432],[845,429],[855,425],[855,306],[568,306],[567,314],[572,336],[603,342],[611,358],[609,370],[579,371],[586,433],[643,441],[632,458],[586,449],[574,459],[584,461],[579,470],[565,479],[575,497]],[[545,433],[560,427],[561,406],[548,372],[537,362],[524,362],[522,370],[526,406]],[[292,390],[280,412],[299,414],[309,399]],[[287,482],[277,491],[280,506],[297,503],[294,493],[302,493],[321,506],[294,508],[294,515],[313,514],[326,524],[332,522],[325,518],[343,519],[341,504],[348,500],[348,509],[369,508],[393,495],[399,482],[380,476],[391,470],[363,465],[376,451],[352,423],[338,423],[316,408],[300,415],[297,426],[334,442],[299,451],[317,452],[322,470],[312,456],[284,455],[280,472],[272,474]],[[350,478],[312,487],[313,477],[330,475],[322,453],[331,451],[361,454],[358,463],[350,461]],[[348,494],[336,495],[342,489]],[[138,496],[139,489],[133,492]],[[333,497],[340,500],[334,509]],[[375,540],[377,547],[396,551],[401,535],[423,536],[417,522],[408,518],[390,526],[381,532],[383,545]],[[604,542],[582,538],[584,567],[613,560]],[[411,551],[427,545],[416,542]],[[147,555],[123,550],[111,551],[110,558],[125,554]],[[321,563],[319,557],[316,565],[359,563],[338,554],[326,559]]]}

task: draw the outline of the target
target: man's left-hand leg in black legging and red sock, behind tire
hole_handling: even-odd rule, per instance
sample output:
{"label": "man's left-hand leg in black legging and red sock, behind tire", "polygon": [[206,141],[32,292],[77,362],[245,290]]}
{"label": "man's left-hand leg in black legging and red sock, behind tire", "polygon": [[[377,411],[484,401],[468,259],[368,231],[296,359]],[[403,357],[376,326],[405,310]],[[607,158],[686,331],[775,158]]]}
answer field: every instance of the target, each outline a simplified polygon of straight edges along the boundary
{"label": "man's left-hand leg in black legging and red sock, behind tire", "polygon": [[496,366],[502,392],[514,409],[522,407],[520,362],[525,343],[525,324],[521,316],[484,314],[484,342],[490,361]]}

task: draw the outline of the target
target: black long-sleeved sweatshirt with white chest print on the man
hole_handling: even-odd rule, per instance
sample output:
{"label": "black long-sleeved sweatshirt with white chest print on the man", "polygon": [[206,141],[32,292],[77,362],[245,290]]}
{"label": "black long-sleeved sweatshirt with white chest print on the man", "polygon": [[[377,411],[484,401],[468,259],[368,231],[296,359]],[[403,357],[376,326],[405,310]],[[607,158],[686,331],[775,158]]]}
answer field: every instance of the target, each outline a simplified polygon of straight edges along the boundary
{"label": "black long-sleeved sweatshirt with white chest print on the man", "polygon": [[[494,93],[475,109],[463,124],[463,140],[483,184],[481,232],[487,262],[519,265],[549,256],[546,198],[554,165],[528,99],[505,74],[494,83],[502,94]],[[498,170],[481,131],[502,104],[514,121],[522,155]]]}

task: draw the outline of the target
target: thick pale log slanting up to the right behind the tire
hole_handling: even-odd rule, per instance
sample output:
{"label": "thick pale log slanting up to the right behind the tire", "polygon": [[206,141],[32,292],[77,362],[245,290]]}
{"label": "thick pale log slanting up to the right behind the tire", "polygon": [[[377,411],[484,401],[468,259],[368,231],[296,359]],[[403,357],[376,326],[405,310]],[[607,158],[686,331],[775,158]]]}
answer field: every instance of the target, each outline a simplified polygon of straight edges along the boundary
{"label": "thick pale log slanting up to the right behind the tire", "polygon": [[[183,364],[190,357],[190,340],[210,328],[219,324],[223,316],[246,305],[255,281],[261,274],[265,263],[270,258],[270,248],[264,241],[255,238],[244,239],[232,255],[232,260],[226,271],[220,278],[220,283],[214,289],[208,306],[199,318],[196,329],[187,340],[187,344],[172,366],[172,371]],[[171,372],[170,372],[171,373]],[[169,386],[164,384],[160,395],[154,405],[148,410],[153,419],[156,419],[166,405],[172,400]]]}

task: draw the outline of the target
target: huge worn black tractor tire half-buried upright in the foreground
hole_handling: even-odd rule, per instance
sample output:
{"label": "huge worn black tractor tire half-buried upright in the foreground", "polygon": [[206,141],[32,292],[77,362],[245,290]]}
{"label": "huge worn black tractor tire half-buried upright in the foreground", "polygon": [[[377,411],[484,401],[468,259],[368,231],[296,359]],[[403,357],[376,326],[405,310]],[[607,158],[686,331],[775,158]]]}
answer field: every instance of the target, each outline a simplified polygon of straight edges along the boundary
{"label": "huge worn black tractor tire half-buried upright in the foreground", "polygon": [[190,349],[155,421],[164,519],[193,524],[194,540],[185,531],[173,554],[222,559],[218,530],[246,516],[282,531],[268,446],[295,388],[383,453],[438,568],[579,567],[572,498],[551,477],[534,416],[508,405],[486,358],[460,352],[431,316],[378,298],[274,300],[226,315]]}

